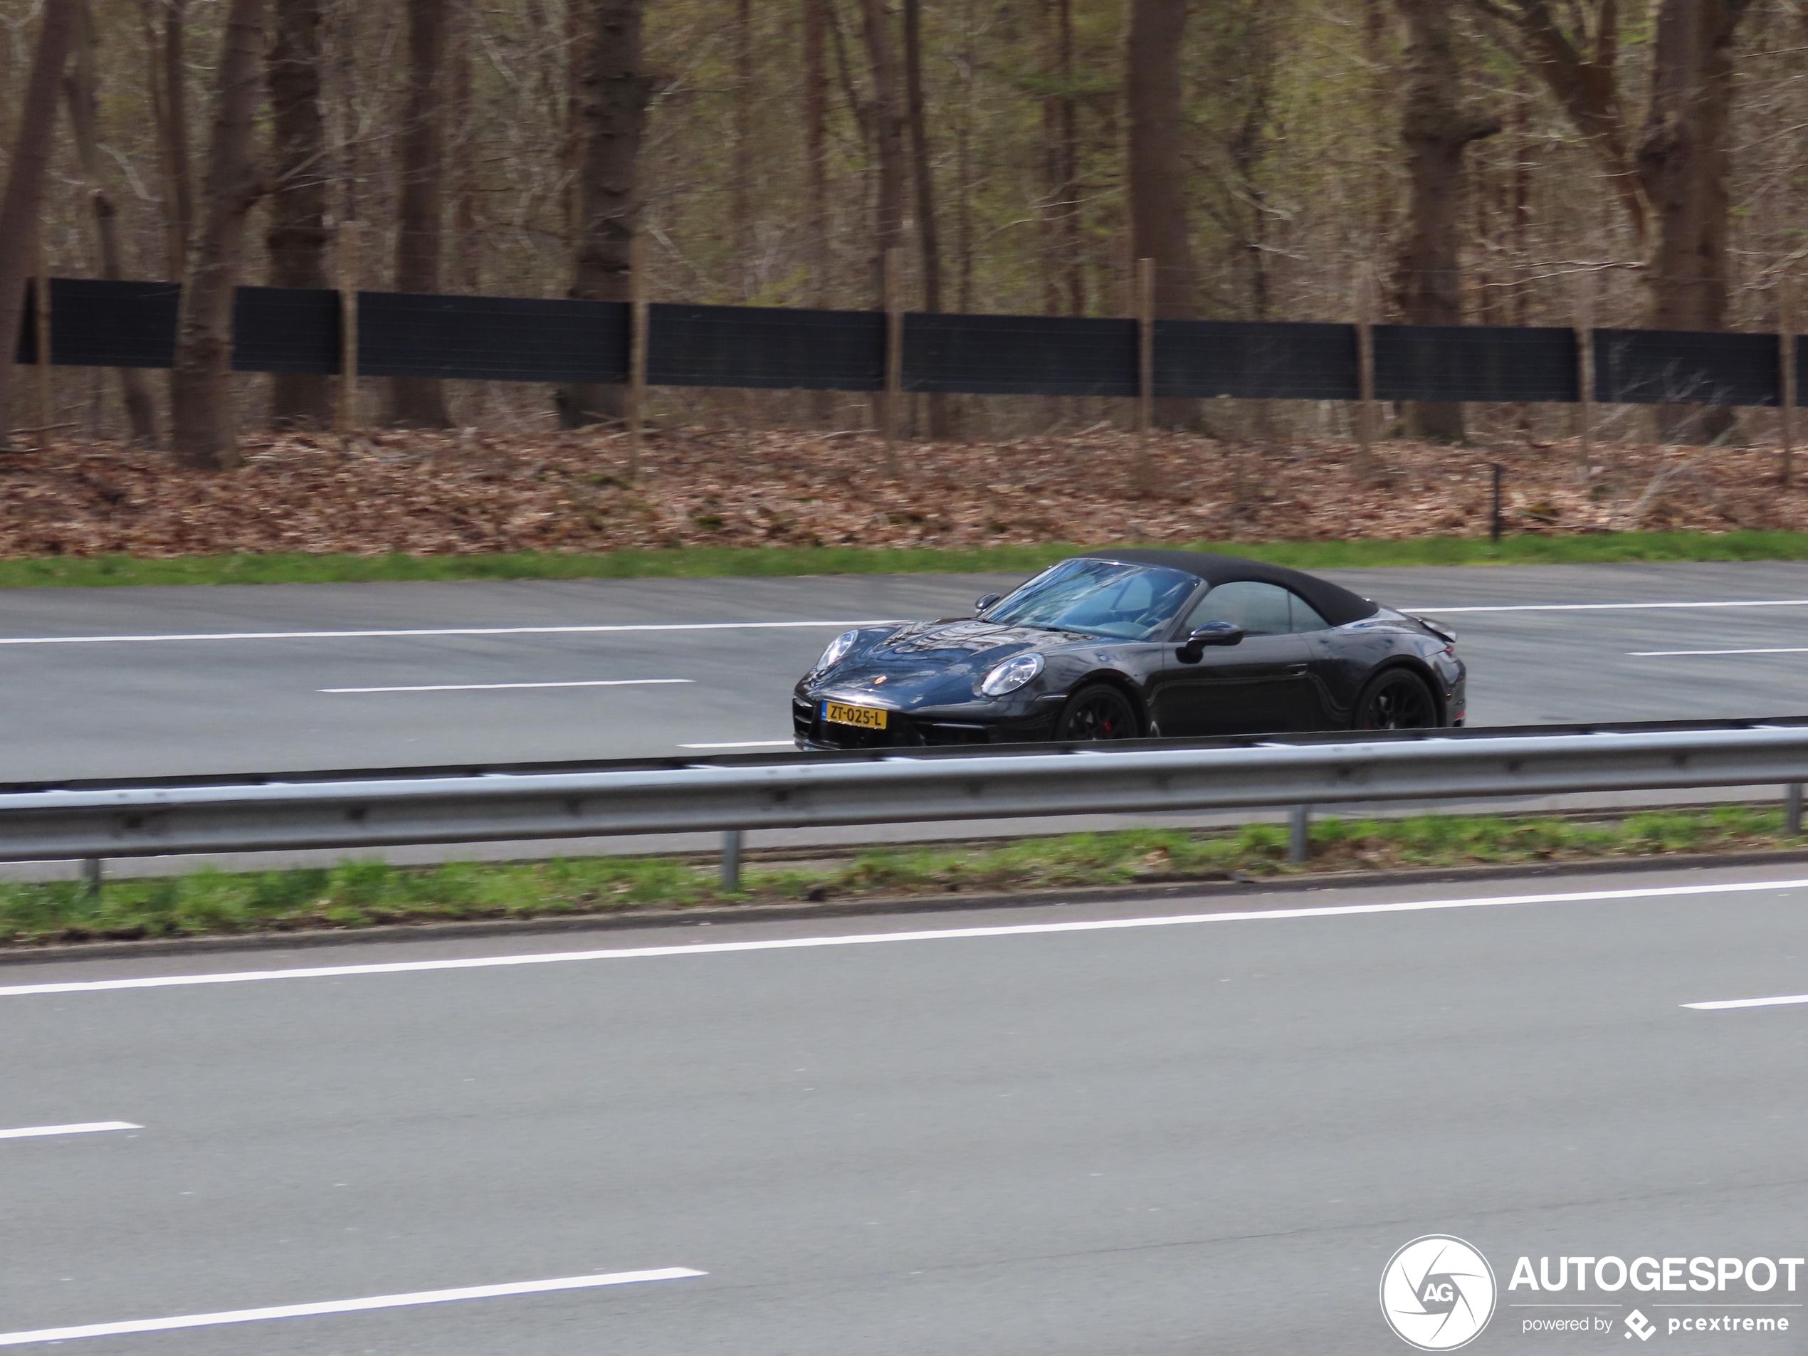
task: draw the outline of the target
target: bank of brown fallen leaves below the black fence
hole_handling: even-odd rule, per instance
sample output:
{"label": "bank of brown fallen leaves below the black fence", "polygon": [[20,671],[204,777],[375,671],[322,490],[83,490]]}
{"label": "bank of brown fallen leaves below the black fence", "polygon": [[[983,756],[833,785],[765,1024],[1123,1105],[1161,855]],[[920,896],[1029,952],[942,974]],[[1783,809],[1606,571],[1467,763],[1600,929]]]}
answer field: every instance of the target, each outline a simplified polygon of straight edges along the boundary
{"label": "bank of brown fallen leaves below the black fence", "polygon": [[226,474],[69,441],[0,459],[0,560],[1486,539],[1495,461],[1513,537],[1808,532],[1808,486],[1777,485],[1774,448],[1615,443],[1584,474],[1573,441],[1363,456],[1164,434],[1148,492],[1137,448],[1116,428],[911,441],[888,477],[870,434],[664,428],[631,481],[627,441],[607,430],[371,432],[349,452],[268,436]]}

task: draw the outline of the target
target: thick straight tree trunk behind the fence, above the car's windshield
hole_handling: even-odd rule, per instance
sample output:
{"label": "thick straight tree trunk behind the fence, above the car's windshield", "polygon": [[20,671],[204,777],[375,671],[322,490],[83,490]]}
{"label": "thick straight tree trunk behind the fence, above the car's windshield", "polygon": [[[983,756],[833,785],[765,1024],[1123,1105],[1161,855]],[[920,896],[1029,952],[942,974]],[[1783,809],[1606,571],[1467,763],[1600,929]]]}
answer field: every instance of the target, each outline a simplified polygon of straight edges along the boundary
{"label": "thick straight tree trunk behind the fence, above the car's windshield", "polygon": [[[1130,0],[1125,108],[1130,116],[1130,239],[1134,259],[1155,260],[1155,315],[1193,315],[1193,246],[1186,222],[1186,123],[1181,43],[1188,0]],[[1155,401],[1155,423],[1182,427],[1199,401]]]}

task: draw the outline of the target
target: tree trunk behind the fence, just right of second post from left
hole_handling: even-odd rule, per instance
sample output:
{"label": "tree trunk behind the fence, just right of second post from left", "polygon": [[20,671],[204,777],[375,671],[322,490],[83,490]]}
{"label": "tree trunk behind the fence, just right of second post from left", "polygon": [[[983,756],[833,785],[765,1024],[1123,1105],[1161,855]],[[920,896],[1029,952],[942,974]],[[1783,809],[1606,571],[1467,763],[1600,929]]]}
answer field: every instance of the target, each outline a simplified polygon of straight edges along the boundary
{"label": "tree trunk behind the fence, just right of second post from left", "polygon": [[[401,199],[396,208],[396,291],[439,291],[441,192],[445,177],[447,0],[409,0],[409,105],[403,114]],[[432,376],[389,378],[389,421],[445,428],[445,387]]]}

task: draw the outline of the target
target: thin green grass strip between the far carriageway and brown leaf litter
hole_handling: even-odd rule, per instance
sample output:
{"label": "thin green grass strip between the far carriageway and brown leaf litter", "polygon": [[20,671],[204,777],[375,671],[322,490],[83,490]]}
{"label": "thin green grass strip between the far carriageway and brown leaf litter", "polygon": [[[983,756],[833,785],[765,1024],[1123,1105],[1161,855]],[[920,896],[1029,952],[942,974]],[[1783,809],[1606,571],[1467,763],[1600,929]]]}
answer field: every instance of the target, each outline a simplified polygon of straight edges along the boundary
{"label": "thin green grass strip between the far carriageway and brown leaf litter", "polygon": [[[1573,537],[1191,542],[1298,570],[1455,564],[1625,564],[1808,560],[1804,532],[1620,532]],[[709,579],[720,575],[1029,573],[1072,555],[1069,542],[984,548],[678,546],[597,555],[128,555],[0,560],[0,588],[121,584],[365,584],[457,579]]]}

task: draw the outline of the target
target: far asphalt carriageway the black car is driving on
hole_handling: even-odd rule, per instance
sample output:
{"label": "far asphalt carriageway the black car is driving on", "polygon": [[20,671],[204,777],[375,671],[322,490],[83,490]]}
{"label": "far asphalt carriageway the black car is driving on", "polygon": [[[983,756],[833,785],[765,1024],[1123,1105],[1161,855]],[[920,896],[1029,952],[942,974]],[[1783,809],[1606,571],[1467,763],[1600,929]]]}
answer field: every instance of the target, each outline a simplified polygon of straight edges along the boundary
{"label": "far asphalt carriageway the black car is driving on", "polygon": [[[1327,573],[1457,626],[1474,725],[1808,712],[1804,564]],[[788,747],[790,685],[848,624],[1014,582],[16,589],[4,779]]]}

